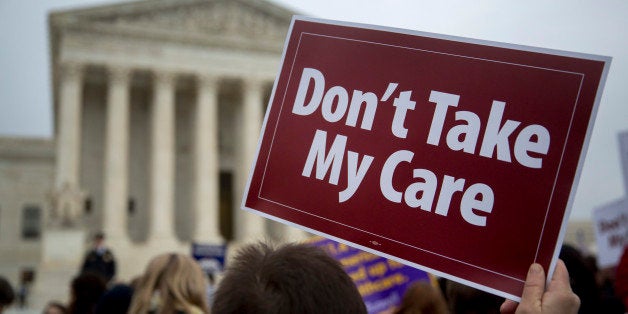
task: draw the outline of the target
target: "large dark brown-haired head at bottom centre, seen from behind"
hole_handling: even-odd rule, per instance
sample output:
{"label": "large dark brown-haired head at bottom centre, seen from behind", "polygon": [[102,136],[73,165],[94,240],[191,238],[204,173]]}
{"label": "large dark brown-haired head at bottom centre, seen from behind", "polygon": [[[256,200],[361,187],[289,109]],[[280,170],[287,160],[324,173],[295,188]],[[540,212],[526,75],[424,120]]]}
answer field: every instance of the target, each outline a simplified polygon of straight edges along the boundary
{"label": "large dark brown-haired head at bottom centre, seen from behind", "polygon": [[342,266],[319,248],[257,243],[232,259],[214,294],[212,314],[366,313]]}

